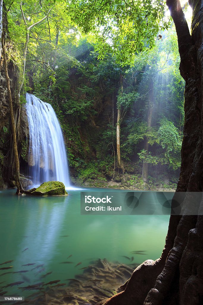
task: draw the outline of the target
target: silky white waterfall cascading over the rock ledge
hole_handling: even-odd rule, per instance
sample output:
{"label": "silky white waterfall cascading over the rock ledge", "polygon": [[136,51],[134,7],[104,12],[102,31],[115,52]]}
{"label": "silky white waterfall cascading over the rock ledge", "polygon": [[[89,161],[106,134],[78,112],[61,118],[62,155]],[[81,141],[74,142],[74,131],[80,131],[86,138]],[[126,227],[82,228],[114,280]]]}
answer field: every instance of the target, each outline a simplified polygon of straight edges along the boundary
{"label": "silky white waterfall cascading over the rock ledge", "polygon": [[29,93],[26,93],[26,101],[30,133],[28,164],[33,184],[61,181],[68,187],[68,159],[54,109]]}

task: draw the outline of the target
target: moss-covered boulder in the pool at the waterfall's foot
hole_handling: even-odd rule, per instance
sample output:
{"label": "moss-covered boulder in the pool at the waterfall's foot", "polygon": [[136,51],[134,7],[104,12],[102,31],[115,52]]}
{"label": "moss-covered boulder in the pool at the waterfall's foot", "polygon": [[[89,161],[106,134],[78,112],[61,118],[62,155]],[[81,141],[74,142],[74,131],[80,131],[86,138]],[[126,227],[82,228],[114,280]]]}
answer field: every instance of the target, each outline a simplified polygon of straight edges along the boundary
{"label": "moss-covered boulder in the pool at the waterfall's foot", "polygon": [[68,195],[65,185],[60,181],[48,181],[42,183],[38,188],[26,191],[26,194],[33,196],[60,196]]}

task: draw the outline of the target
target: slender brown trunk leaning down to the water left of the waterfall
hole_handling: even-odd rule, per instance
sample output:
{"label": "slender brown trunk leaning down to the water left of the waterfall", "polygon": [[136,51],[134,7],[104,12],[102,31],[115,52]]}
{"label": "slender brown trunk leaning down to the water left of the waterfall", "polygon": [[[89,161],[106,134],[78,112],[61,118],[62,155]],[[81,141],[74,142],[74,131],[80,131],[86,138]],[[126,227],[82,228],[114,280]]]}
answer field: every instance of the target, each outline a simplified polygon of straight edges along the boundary
{"label": "slender brown trunk leaning down to the water left of the waterfall", "polygon": [[4,68],[5,68],[5,76],[7,82],[7,89],[8,89],[8,96],[9,96],[9,107],[10,107],[10,116],[11,116],[11,127],[12,127],[12,137],[13,137],[13,151],[15,157],[15,167],[16,167],[16,185],[17,185],[17,195],[20,195],[24,192],[22,184],[20,182],[20,165],[19,165],[19,158],[18,158],[18,148],[17,148],[17,141],[16,141],[16,126],[15,120],[13,115],[13,105],[12,105],[12,97],[11,97],[11,88],[10,88],[10,79],[7,69],[7,59],[6,59],[6,52],[4,46],[4,37],[2,35],[2,49],[3,49],[3,56],[4,56]]}

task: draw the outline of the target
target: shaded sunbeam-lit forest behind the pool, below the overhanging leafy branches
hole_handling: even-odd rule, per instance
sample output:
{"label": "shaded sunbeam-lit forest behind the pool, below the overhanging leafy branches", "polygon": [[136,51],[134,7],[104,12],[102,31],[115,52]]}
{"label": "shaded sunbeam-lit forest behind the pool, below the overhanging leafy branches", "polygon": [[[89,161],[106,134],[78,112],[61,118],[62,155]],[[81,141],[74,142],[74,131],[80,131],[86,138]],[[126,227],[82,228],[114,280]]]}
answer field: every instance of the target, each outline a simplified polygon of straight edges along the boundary
{"label": "shaded sunbeam-lit forest behind the pool, below the overhanging leafy branches", "polygon": [[[40,20],[47,11],[46,2],[23,5],[27,23]],[[21,173],[29,174],[24,104],[25,93],[30,92],[49,102],[57,113],[73,183],[130,189],[176,188],[184,125],[184,80],[179,73],[173,24],[154,38],[151,50],[137,52],[133,64],[126,65],[108,49],[101,56],[98,41],[91,34],[81,34],[61,5],[56,4],[47,19],[30,32],[19,100],[16,88],[23,74],[26,31],[19,5],[9,1],[4,5],[9,73],[15,83],[12,93],[16,109],[21,109],[16,111],[16,122],[20,120]],[[122,166],[117,160],[118,125]],[[15,180],[10,168],[10,145],[9,120],[2,117],[2,185]]]}

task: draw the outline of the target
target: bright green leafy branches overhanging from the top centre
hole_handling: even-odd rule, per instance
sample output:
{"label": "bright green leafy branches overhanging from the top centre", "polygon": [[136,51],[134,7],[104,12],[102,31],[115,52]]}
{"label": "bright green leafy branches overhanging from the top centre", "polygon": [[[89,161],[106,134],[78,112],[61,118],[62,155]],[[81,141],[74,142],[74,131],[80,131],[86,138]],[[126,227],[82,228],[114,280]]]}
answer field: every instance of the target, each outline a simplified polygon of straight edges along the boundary
{"label": "bright green leafy branches overhanging from the top centre", "polygon": [[99,59],[106,53],[121,65],[133,65],[135,55],[152,48],[160,28],[167,28],[165,5],[159,0],[70,0],[67,11],[83,33],[93,33]]}

